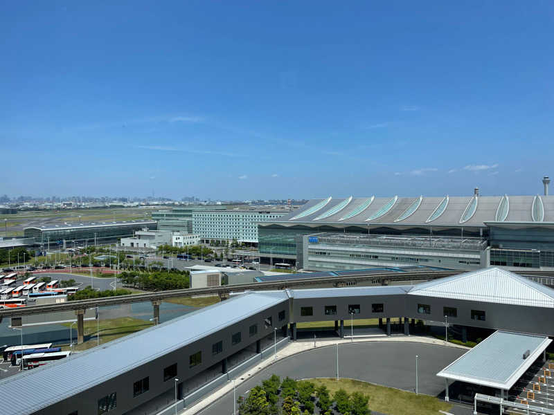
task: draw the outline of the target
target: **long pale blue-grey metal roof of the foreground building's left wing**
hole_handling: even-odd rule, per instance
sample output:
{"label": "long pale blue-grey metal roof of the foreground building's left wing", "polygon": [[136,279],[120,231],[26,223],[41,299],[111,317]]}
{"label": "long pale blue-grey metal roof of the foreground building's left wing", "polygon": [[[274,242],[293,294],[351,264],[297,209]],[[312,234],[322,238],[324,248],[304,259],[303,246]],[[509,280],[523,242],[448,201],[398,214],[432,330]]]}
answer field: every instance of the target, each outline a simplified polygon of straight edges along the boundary
{"label": "long pale blue-grey metal roof of the foreground building's left wing", "polygon": [[39,411],[287,299],[285,291],[236,295],[101,347],[0,380],[4,396],[33,391],[24,399],[0,400],[0,414],[25,415]]}

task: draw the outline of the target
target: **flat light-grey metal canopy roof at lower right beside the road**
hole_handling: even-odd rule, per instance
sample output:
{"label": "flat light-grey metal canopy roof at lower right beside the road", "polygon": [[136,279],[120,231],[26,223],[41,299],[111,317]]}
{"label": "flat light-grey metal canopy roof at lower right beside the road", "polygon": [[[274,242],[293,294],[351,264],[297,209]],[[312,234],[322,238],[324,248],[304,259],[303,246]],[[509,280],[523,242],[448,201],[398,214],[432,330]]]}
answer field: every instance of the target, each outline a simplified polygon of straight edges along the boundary
{"label": "flat light-grey metal canopy roof at lower right beside the road", "polygon": [[495,331],[437,376],[509,390],[551,342],[542,335]]}

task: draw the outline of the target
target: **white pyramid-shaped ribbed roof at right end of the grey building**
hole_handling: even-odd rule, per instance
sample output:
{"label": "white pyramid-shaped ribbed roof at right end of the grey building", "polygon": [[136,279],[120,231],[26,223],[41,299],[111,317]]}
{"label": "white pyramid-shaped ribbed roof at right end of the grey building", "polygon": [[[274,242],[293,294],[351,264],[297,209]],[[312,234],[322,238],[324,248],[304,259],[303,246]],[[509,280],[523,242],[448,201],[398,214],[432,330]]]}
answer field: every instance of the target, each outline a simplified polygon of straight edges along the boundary
{"label": "white pyramid-shaped ribbed roof at right end of the grey building", "polygon": [[500,268],[423,282],[409,294],[554,308],[554,290]]}

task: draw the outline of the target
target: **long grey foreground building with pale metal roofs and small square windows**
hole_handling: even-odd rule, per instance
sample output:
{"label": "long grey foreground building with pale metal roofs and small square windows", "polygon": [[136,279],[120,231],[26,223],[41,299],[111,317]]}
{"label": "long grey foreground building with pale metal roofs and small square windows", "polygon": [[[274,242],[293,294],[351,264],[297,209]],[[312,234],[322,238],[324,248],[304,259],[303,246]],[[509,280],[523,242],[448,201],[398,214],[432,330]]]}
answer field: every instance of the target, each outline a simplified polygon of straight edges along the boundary
{"label": "long grey foreground building with pale metal roofs and small square windows", "polygon": [[[542,336],[533,343],[535,347],[530,347],[532,356],[524,362],[530,365],[546,349],[549,341],[545,336],[554,335],[554,290],[507,270],[487,268],[415,286],[245,292],[0,380],[6,396],[18,396],[21,390],[34,391],[25,399],[1,400],[0,413],[172,412],[173,405],[177,409],[185,403],[190,405],[209,393],[210,387],[240,374],[240,368],[258,361],[265,349],[272,353],[274,341],[283,344],[288,341],[287,335],[296,340],[296,324],[300,322],[334,321],[337,335],[343,337],[344,320],[378,318],[390,335],[391,320],[398,319],[408,335],[415,319],[444,322],[445,316],[449,324],[463,330],[477,327],[519,333],[519,338],[526,339],[521,342],[525,346],[533,343],[533,336]],[[500,334],[496,338],[499,336],[506,337]],[[494,339],[488,342],[492,347]],[[488,343],[474,350],[486,348]],[[519,349],[513,353],[519,354]],[[496,365],[502,365],[503,356],[495,356]],[[516,363],[512,366],[518,367]],[[460,370],[449,367],[439,376],[446,378],[448,386],[448,379],[456,379]],[[500,387],[509,389],[510,385],[503,382]]]}

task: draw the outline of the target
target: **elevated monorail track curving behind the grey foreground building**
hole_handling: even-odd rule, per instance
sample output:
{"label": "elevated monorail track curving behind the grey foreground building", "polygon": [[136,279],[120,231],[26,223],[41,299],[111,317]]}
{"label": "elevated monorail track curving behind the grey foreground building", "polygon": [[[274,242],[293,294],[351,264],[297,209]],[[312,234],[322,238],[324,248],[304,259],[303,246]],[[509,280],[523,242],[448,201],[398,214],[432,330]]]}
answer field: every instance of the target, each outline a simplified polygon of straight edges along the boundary
{"label": "elevated monorail track curving behind the grey foreground building", "polygon": [[[119,295],[118,297],[82,299],[60,304],[44,304],[42,306],[25,306],[0,310],[0,320],[3,317],[22,317],[35,313],[53,313],[55,311],[85,310],[97,306],[113,306],[118,304],[130,304],[136,302],[162,301],[163,299],[175,297],[191,297],[193,295],[222,295],[249,290],[283,290],[285,288],[302,288],[304,286],[317,286],[321,284],[342,284],[372,282],[373,284],[382,284],[384,282],[402,282],[418,281],[449,277],[460,274],[460,271],[413,271],[408,273],[378,273],[368,275],[339,276],[339,277],[321,277],[321,278],[303,278],[283,281],[256,282],[247,284],[234,284],[206,288],[185,288],[181,290],[159,291],[156,293]],[[526,271],[526,275],[544,277],[554,277],[554,272],[548,271]]]}

